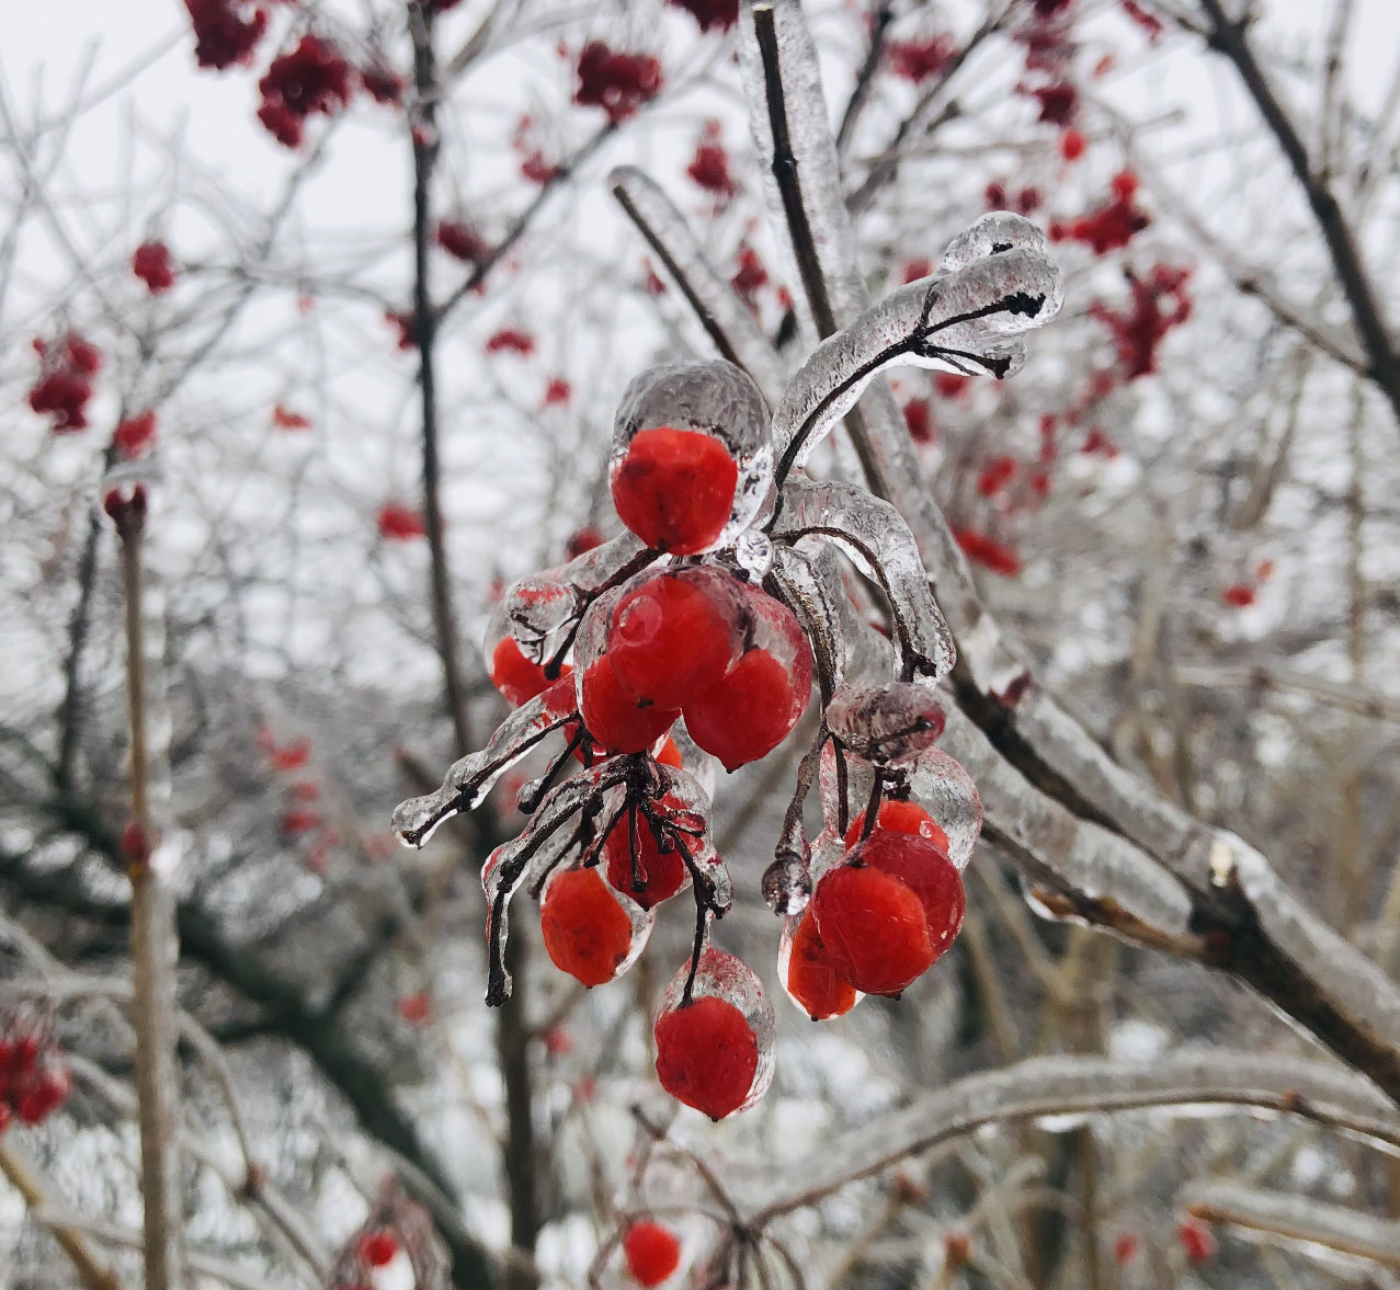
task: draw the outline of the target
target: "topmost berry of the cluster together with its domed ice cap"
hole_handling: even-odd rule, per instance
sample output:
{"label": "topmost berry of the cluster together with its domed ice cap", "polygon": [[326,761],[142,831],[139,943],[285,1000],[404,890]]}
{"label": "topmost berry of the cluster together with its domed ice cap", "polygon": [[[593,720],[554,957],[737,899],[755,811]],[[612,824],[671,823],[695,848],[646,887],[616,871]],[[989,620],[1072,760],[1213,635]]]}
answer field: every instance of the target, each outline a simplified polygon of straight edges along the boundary
{"label": "topmost berry of the cluster together with its domed ice cap", "polygon": [[647,546],[678,555],[728,546],[773,483],[759,388],[724,360],[643,372],[617,406],[609,483],[619,516]]}

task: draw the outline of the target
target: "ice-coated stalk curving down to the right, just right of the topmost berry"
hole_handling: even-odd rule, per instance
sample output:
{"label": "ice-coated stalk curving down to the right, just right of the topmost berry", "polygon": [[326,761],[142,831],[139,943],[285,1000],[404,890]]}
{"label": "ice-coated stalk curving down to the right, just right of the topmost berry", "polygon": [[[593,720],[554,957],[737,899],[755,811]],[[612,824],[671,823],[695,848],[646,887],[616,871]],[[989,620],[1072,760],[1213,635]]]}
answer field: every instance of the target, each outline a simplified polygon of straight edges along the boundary
{"label": "ice-coated stalk curving down to the right, just right of the topmost berry", "polygon": [[[917,673],[938,681],[948,673],[956,658],[952,631],[928,589],[914,534],[889,502],[840,480],[792,479],[783,488],[773,536],[797,540],[808,550],[839,547],[885,588],[906,676]],[[840,602],[846,600],[841,592],[833,613],[843,613]],[[861,635],[867,634],[847,631],[837,639],[853,642]]]}

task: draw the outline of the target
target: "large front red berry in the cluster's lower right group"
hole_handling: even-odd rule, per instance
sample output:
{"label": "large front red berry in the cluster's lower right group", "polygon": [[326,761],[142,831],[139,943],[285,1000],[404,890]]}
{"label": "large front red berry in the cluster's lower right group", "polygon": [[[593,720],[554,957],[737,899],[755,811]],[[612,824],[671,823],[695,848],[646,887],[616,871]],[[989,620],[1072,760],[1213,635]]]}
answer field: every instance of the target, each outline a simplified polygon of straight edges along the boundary
{"label": "large front red berry in the cluster's lower right group", "polygon": [[937,957],[923,902],[878,869],[833,869],[811,909],[832,965],[862,993],[897,995]]}

